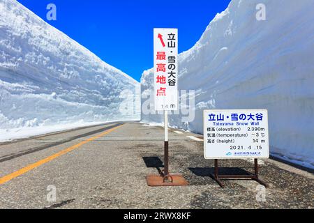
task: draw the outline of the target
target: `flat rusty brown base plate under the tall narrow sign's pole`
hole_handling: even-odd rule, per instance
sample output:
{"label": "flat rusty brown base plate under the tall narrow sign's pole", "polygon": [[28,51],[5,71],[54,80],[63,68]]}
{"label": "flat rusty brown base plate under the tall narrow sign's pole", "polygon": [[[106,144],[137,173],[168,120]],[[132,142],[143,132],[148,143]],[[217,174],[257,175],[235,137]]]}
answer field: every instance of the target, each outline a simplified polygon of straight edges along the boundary
{"label": "flat rusty brown base plate under the tall narrow sign's pole", "polygon": [[171,187],[171,186],[186,186],[188,181],[181,174],[170,174],[173,181],[166,180],[163,182],[163,175],[151,174],[146,177],[149,187]]}

